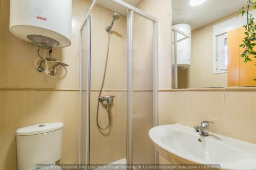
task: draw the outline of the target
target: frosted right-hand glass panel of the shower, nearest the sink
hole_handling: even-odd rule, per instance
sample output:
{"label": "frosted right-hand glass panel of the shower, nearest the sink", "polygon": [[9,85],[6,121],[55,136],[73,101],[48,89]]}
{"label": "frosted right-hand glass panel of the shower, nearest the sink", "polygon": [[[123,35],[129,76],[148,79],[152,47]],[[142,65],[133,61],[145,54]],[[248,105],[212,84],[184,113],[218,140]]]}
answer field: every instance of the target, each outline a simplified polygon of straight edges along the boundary
{"label": "frosted right-hand glass panel of the shower, nearest the sink", "polygon": [[133,164],[154,164],[155,148],[148,136],[154,127],[154,25],[134,14],[132,59]]}

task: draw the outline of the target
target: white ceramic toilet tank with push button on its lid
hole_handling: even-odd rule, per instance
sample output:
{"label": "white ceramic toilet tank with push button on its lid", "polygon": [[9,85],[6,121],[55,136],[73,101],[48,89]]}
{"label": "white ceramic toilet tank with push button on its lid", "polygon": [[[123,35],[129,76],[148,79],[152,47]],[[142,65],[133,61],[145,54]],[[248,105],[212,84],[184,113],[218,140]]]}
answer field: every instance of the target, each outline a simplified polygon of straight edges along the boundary
{"label": "white ceramic toilet tank with push button on its lid", "polygon": [[36,169],[61,158],[63,123],[46,123],[16,131],[18,170]]}

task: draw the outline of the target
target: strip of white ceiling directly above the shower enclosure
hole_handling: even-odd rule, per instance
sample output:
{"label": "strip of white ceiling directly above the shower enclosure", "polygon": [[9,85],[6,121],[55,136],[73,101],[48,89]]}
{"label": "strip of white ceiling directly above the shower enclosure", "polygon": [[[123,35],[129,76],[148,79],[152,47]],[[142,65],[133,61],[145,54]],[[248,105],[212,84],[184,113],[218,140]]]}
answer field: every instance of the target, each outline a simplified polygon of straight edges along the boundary
{"label": "strip of white ceiling directly above the shower enclosure", "polygon": [[[130,4],[132,6],[136,6],[140,0],[122,0],[123,2],[127,3],[127,4]],[[157,0],[155,0],[157,1]],[[115,12],[118,12],[122,15],[127,15],[127,9],[124,8],[123,6],[111,1],[111,0],[98,0],[97,4],[103,6],[103,7],[106,7],[106,8],[109,8]]]}

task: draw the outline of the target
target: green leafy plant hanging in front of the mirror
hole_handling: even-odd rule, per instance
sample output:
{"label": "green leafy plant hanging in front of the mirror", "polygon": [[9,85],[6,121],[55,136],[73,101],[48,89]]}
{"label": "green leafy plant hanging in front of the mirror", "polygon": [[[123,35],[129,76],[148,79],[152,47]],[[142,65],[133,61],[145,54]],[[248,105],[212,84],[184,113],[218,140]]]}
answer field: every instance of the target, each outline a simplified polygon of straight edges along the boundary
{"label": "green leafy plant hanging in front of the mirror", "polygon": [[[256,58],[256,52],[253,50],[253,47],[256,45],[256,43],[252,43],[256,40],[256,25],[254,25],[254,18],[252,17],[252,14],[249,13],[250,5],[254,4],[253,9],[256,9],[256,0],[247,0],[245,6],[243,6],[239,12],[238,16],[246,13],[247,16],[247,23],[243,27],[245,28],[244,34],[246,37],[243,40],[243,43],[240,45],[240,47],[245,48],[245,51],[243,54],[240,55],[240,57],[244,58],[244,63],[247,63],[248,61],[252,61],[250,58],[250,55],[254,55],[254,58]],[[256,64],[254,64],[256,66]],[[254,79],[256,81],[256,79]]]}

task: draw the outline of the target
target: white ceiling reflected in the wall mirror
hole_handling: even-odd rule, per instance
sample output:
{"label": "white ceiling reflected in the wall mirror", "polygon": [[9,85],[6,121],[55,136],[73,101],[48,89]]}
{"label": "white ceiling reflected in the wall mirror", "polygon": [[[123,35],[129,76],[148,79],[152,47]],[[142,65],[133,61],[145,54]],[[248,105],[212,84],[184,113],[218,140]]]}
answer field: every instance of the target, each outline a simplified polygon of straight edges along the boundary
{"label": "white ceiling reflected in the wall mirror", "polygon": [[238,12],[246,0],[206,0],[202,5],[193,7],[190,0],[172,0],[172,25],[188,23],[192,30],[214,22],[227,15]]}

